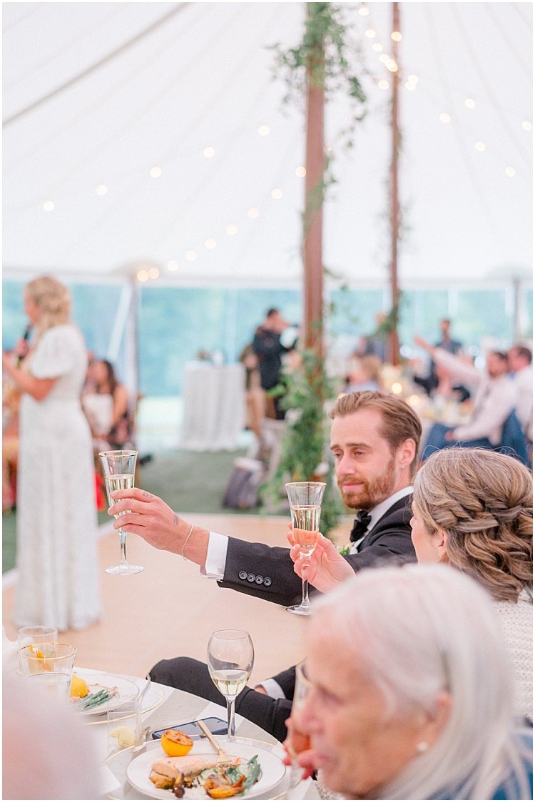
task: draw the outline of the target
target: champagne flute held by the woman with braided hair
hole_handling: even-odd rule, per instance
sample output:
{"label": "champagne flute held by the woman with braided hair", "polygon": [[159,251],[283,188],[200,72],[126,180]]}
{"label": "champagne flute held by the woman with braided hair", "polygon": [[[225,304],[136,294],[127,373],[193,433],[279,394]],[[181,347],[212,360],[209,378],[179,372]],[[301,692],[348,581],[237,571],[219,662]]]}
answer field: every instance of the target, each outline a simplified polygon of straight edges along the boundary
{"label": "champagne flute held by the woman with braided hair", "polygon": [[310,555],[314,552],[318,542],[319,519],[322,512],[322,498],[325,488],[325,482],[288,482],[286,484],[292,526],[294,528],[294,541],[300,547],[300,556],[305,557],[301,603],[286,607],[289,613],[296,615],[310,615],[308,565]]}

